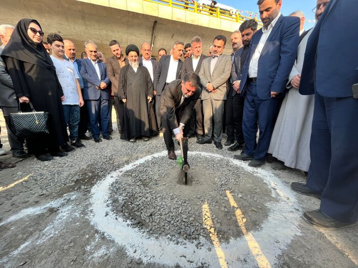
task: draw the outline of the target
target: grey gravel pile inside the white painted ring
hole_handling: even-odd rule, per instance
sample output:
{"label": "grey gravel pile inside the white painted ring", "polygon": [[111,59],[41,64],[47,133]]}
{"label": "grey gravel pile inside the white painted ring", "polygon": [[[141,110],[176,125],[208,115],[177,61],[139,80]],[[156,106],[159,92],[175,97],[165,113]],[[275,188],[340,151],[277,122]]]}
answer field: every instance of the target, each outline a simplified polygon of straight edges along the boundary
{"label": "grey gravel pile inside the white painted ring", "polygon": [[226,159],[189,155],[189,164],[189,185],[183,185],[174,161],[152,159],[129,170],[111,185],[112,211],[128,220],[128,226],[150,236],[194,242],[200,237],[210,240],[212,226],[205,223],[209,215],[203,219],[203,205],[208,204],[215,232],[229,241],[242,235],[236,208],[230,206],[226,194],[229,190],[244,213],[257,214],[252,217],[255,220],[245,223],[247,230],[259,228],[267,217],[266,202],[274,200],[261,181],[262,187],[257,184],[258,177]]}

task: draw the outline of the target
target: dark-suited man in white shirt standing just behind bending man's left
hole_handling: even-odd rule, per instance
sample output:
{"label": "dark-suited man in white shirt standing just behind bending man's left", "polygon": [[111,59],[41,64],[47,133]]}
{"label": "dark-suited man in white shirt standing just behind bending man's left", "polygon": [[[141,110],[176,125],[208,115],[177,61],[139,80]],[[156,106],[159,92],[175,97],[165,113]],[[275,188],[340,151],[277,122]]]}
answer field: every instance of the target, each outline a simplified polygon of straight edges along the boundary
{"label": "dark-suited man in white shirt standing just behind bending man's left", "polygon": [[158,68],[154,74],[154,96],[155,96],[155,112],[158,127],[161,128],[161,117],[159,115],[159,99],[166,85],[175,79],[181,78],[183,61],[180,59],[183,56],[184,43],[182,41],[175,41],[172,48],[172,54],[162,56]]}

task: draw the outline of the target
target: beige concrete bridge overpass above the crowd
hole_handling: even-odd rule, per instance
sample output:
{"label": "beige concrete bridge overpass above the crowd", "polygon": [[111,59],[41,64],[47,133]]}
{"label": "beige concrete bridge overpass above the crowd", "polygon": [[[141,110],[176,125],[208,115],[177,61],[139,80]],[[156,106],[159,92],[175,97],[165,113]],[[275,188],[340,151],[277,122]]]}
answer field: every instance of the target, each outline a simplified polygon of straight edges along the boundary
{"label": "beige concrete bridge overpass above the crowd", "polygon": [[[77,57],[84,51],[83,42],[93,40],[98,50],[107,57],[108,42],[117,39],[122,49],[129,43],[140,47],[147,41],[152,44],[152,56],[160,48],[168,53],[175,40],[190,42],[199,35],[203,38],[203,53],[207,54],[212,39],[217,34],[227,36],[226,54],[231,53],[230,36],[240,25],[240,20],[220,17],[219,13],[197,12],[195,7],[184,9],[183,4],[171,0],[2,0],[0,24],[16,25],[21,18],[34,18],[45,32],[72,40]],[[194,11],[195,9],[195,11]],[[242,21],[242,20],[241,20]]]}

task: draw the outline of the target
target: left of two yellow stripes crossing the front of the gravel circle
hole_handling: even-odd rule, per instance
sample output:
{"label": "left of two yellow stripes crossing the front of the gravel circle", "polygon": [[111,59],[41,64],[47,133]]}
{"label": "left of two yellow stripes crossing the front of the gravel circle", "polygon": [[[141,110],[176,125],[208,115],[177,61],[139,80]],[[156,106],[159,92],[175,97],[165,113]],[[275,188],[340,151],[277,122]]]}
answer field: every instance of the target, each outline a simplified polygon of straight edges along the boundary
{"label": "left of two yellow stripes crossing the front of the gravel circle", "polygon": [[225,261],[225,253],[221,249],[221,244],[220,244],[219,238],[217,237],[217,233],[215,232],[214,222],[211,217],[211,212],[210,212],[208,202],[205,202],[205,204],[202,207],[202,210],[203,210],[204,226],[209,232],[209,235],[210,235],[211,241],[213,242],[220,266],[221,266],[221,268],[228,268],[228,264]]}

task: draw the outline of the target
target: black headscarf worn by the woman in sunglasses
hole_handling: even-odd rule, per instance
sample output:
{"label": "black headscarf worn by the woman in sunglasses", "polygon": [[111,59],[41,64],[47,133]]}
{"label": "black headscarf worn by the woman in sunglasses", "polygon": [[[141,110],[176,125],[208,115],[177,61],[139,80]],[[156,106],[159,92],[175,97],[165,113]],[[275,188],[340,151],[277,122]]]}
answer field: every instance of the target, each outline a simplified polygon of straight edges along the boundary
{"label": "black headscarf worn by the woman in sunglasses", "polygon": [[[21,19],[15,26],[9,43],[6,45],[1,56],[15,58],[24,62],[33,63],[47,69],[55,70],[55,66],[43,47],[42,43],[35,43],[27,34],[30,23],[40,24],[31,18]],[[42,30],[42,28],[41,28]]]}

